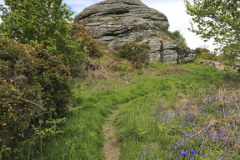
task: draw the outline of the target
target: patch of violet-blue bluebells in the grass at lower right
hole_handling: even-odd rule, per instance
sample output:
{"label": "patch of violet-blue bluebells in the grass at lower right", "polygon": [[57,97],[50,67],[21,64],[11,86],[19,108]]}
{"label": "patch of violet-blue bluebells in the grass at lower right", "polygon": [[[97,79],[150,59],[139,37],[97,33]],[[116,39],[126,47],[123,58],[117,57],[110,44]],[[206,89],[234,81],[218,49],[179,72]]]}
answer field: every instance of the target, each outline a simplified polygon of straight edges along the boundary
{"label": "patch of violet-blue bluebells in the grass at lower right", "polygon": [[[234,100],[235,99],[232,99],[232,101],[230,101],[230,103],[228,104],[227,102],[225,102],[224,103],[224,106],[220,106],[220,107],[215,107],[215,108],[213,108],[214,107],[214,104],[215,104],[215,102],[217,101],[217,98],[218,97],[221,97],[221,98],[224,98],[223,96],[221,96],[221,95],[214,95],[214,94],[211,94],[211,95],[205,95],[205,101],[203,100],[202,101],[202,106],[200,106],[199,107],[199,113],[198,114],[204,114],[203,115],[203,117],[205,118],[206,117],[206,114],[204,113],[204,112],[213,112],[213,111],[215,111],[215,110],[217,110],[218,109],[218,112],[216,113],[216,116],[217,115],[222,115],[222,118],[225,118],[225,117],[227,117],[227,115],[228,115],[228,113],[229,113],[229,111],[230,111],[230,109],[234,109],[235,110],[235,113],[238,113],[238,109],[237,109],[237,107],[236,107],[236,104],[234,104]],[[201,97],[200,97],[200,99],[201,99]],[[225,101],[228,101],[229,100],[229,98],[225,98]],[[156,101],[155,101],[156,102]],[[237,100],[237,102],[239,102],[239,98],[238,98],[238,100]],[[191,106],[190,106],[190,104],[186,104],[187,105],[187,107],[186,108],[184,108],[184,110],[186,110],[186,109],[191,109]],[[207,106],[208,107],[207,107]],[[229,106],[228,107],[228,109],[227,109],[227,106]],[[160,111],[160,110],[163,110],[163,106],[162,106],[162,104],[160,105],[160,106],[157,106],[157,110],[158,111]],[[183,128],[184,127],[184,125],[182,125],[181,126],[181,124],[184,124],[186,121],[188,121],[188,123],[187,123],[187,126],[188,127],[190,127],[190,126],[195,126],[195,121],[196,121],[196,116],[194,115],[194,114],[192,114],[192,113],[189,113],[188,112],[188,114],[187,115],[185,115],[185,118],[183,119],[182,118],[182,115],[180,115],[180,113],[182,112],[182,110],[183,109],[181,109],[180,111],[179,111],[179,109],[176,111],[176,114],[175,114],[175,117],[181,117],[181,120],[180,120],[180,122],[179,122],[179,124],[180,124],[180,126],[177,126],[179,129],[180,128]],[[141,109],[139,109],[139,111],[141,111]],[[121,111],[122,112],[122,111]],[[122,112],[123,113],[123,112]],[[174,112],[172,112],[172,113],[174,113]],[[151,113],[149,114],[149,115],[151,115]],[[159,121],[166,121],[167,119],[168,119],[168,115],[169,115],[169,112],[167,112],[165,115],[164,114],[162,114],[162,113],[159,113],[159,114],[157,114],[157,112],[155,112],[155,116],[156,116],[156,118],[157,118],[157,120],[159,120]],[[240,115],[237,115],[238,117],[240,116]],[[127,117],[128,117],[128,115],[127,115]],[[134,115],[134,117],[136,118],[136,115]],[[148,117],[149,118],[149,117]],[[221,118],[221,117],[220,117]],[[148,120],[149,121],[149,120]],[[153,121],[153,119],[152,119],[152,121]],[[168,120],[169,122],[170,122],[170,120]],[[185,122],[184,122],[185,121]],[[191,122],[190,122],[191,121]],[[230,123],[233,123],[233,121],[231,121]],[[172,123],[170,123],[169,125],[171,125]],[[174,125],[176,125],[176,124],[174,124]],[[155,124],[155,126],[156,126],[156,124]],[[191,127],[192,128],[192,127]],[[236,128],[236,124],[233,124],[232,126],[228,126],[228,128],[229,128],[229,131],[230,130],[233,130],[233,128]],[[198,129],[200,129],[200,127],[198,127]],[[211,126],[209,126],[208,128],[204,128],[205,130],[206,130],[206,133],[209,133],[209,131],[210,131],[210,129],[211,129]],[[221,127],[221,129],[222,129],[222,127]],[[190,146],[189,146],[189,144],[187,143],[187,140],[189,141],[189,142],[191,142],[191,139],[189,138],[190,136],[191,136],[191,134],[190,134],[190,132],[191,132],[191,130],[189,131],[189,133],[188,132],[186,132],[185,133],[185,131],[183,131],[183,135],[180,137],[180,141],[179,142],[176,142],[176,145],[173,145],[172,144],[172,148],[174,148],[175,150],[178,150],[179,151],[179,157],[177,158],[177,157],[175,157],[175,159],[174,160],[179,160],[179,158],[187,158],[189,155],[190,155],[190,159],[191,160],[193,160],[194,159],[194,157],[198,154],[198,153],[200,153],[200,151],[203,151],[203,150],[208,150],[208,151],[211,151],[211,149],[204,149],[204,148],[206,148],[206,147],[208,147],[207,145],[205,146],[204,145],[204,143],[206,142],[206,141],[212,141],[212,139],[213,139],[213,135],[207,135],[206,133],[204,134],[205,135],[205,137],[206,137],[206,139],[209,139],[209,140],[206,140],[205,142],[204,142],[204,140],[205,140],[205,138],[203,138],[204,137],[204,135],[200,135],[199,133],[197,133],[197,137],[194,139],[195,141],[194,141],[194,143],[195,143],[195,146],[196,146],[196,148],[194,149],[194,148],[190,148]],[[194,131],[194,132],[197,132],[196,130]],[[226,133],[224,133],[222,130],[218,130],[218,132],[219,132],[219,134],[218,134],[218,136],[219,136],[219,138],[220,139],[223,139],[225,136],[227,136],[227,134]],[[238,130],[237,130],[237,132],[238,132]],[[195,137],[195,134],[192,136],[192,138],[194,138]],[[201,138],[202,137],[202,138]],[[218,143],[218,140],[219,140],[219,138],[215,138],[214,139],[214,142],[215,142],[215,144],[217,144]],[[233,139],[233,141],[235,141],[235,139],[237,138],[237,136],[235,136],[234,137],[234,139]],[[185,139],[184,141],[182,141],[182,139]],[[197,145],[197,143],[198,144],[200,144],[199,146]],[[225,139],[224,140],[224,142],[225,143],[227,143],[227,145],[230,143],[230,142],[227,142],[227,139]],[[212,142],[210,142],[210,143],[212,143]],[[224,144],[222,144],[222,145],[224,145]],[[228,153],[231,153],[231,150],[230,149],[227,149],[227,145],[225,146],[225,149],[227,150],[227,152]],[[193,147],[193,146],[191,146],[191,147]],[[184,149],[184,148],[187,148],[187,149]],[[201,148],[203,148],[203,149],[201,149]],[[141,152],[140,153],[140,156],[139,156],[139,158],[141,158],[141,159],[145,159],[145,158],[148,158],[148,156],[151,156],[151,157],[153,157],[153,155],[152,155],[152,153],[149,153],[148,155],[147,155],[147,153],[148,153],[148,151],[151,149],[151,147],[148,147],[148,149],[145,151],[145,152]],[[198,154],[199,155],[199,154]],[[200,155],[200,157],[202,157],[202,156],[204,156],[205,154],[204,153],[202,153],[201,155]],[[158,158],[158,155],[156,154],[156,156],[154,156],[154,157],[156,157],[156,158]],[[225,159],[226,158],[226,155],[225,154],[223,154],[222,156],[221,156],[223,159]],[[217,159],[216,160],[220,160],[220,158],[221,157],[216,157]],[[137,160],[137,158],[136,158],[136,160]]]}

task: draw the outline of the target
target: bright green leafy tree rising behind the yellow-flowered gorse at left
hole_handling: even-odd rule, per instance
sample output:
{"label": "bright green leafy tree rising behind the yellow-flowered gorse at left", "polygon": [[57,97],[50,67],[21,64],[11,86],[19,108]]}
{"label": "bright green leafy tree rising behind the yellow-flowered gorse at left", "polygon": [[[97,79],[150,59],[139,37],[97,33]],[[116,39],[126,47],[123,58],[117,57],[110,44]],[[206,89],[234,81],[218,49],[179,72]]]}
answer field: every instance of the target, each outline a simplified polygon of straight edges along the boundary
{"label": "bright green leafy tree rising behind the yellow-flowered gorse at left", "polygon": [[0,33],[10,39],[17,38],[21,44],[30,44],[32,47],[44,44],[43,48],[52,52],[52,55],[62,55],[60,61],[65,65],[76,64],[77,59],[85,62],[87,60],[86,48],[83,49],[83,52],[76,51],[81,40],[76,43],[69,41],[71,38],[68,34],[70,27],[63,18],[65,15],[67,20],[72,21],[73,18],[70,16],[74,12],[71,13],[66,9],[65,3],[60,6],[61,3],[62,0],[47,1],[46,6],[44,1],[31,0],[24,3],[7,1],[6,5],[10,8],[9,13],[5,7],[0,6],[0,10],[3,11]]}

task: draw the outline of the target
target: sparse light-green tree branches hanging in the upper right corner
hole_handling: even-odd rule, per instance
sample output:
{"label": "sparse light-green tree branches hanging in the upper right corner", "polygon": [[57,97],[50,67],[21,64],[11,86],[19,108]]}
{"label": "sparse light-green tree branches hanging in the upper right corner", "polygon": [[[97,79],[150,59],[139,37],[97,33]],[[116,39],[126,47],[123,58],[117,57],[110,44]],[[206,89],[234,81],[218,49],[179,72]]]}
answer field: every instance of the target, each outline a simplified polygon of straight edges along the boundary
{"label": "sparse light-green tree branches hanging in the upper right corner", "polygon": [[[214,37],[214,40],[217,43],[222,44],[223,48],[215,49],[221,50],[229,54],[228,60],[232,59],[234,61],[235,57],[239,55],[239,23],[240,16],[238,8],[239,3],[237,0],[232,1],[219,1],[211,0],[209,1],[194,1],[194,6],[192,6],[187,0],[186,3],[187,14],[191,16],[196,16],[192,18],[195,23],[198,23],[198,29],[193,29],[193,24],[191,23],[192,28],[188,30],[201,35],[201,38],[210,39]],[[205,20],[206,17],[213,19]],[[206,27],[205,29],[202,27]],[[209,30],[210,28],[210,30]],[[220,38],[220,36],[223,36]],[[205,42],[207,40],[204,40]],[[233,44],[237,42],[236,44]],[[225,56],[226,58],[226,56]]]}

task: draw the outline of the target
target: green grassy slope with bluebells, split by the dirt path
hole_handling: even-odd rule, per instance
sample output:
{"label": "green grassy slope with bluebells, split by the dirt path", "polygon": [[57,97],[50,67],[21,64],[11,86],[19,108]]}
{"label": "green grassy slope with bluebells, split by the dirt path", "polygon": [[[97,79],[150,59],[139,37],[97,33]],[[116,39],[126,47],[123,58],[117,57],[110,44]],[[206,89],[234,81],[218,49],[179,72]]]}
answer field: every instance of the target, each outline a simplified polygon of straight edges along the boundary
{"label": "green grassy slope with bluebells, split by the dirt path", "polygon": [[[120,160],[180,159],[181,155],[187,160],[190,154],[185,154],[186,150],[197,151],[194,159],[223,159],[224,156],[224,159],[239,159],[236,157],[238,101],[228,99],[238,89],[229,85],[237,85],[237,77],[230,81],[230,73],[222,76],[223,71],[204,65],[174,67],[179,68],[179,73],[172,66],[158,64],[155,76],[132,71],[116,79],[85,84],[75,81],[73,88],[82,108],[67,117],[65,125],[59,128],[63,134],[56,141],[44,139],[45,159],[105,159],[102,126],[112,110],[118,109],[114,127],[121,149]],[[132,81],[128,85],[120,84],[126,77]],[[228,92],[220,90],[224,85],[228,86]],[[226,121],[222,122],[223,118]],[[208,126],[209,131],[205,130]],[[220,130],[226,135],[222,133],[221,137]],[[214,137],[207,138],[205,134]],[[227,145],[225,139],[233,145]]]}

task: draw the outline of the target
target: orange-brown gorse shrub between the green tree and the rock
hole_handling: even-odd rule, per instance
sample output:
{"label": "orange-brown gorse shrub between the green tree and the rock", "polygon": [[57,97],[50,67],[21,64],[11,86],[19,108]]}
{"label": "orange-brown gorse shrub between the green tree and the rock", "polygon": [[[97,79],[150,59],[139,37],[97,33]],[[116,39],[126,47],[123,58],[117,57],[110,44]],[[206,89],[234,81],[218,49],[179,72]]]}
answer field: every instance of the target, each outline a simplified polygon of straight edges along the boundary
{"label": "orange-brown gorse shrub between the green tree and the rock", "polygon": [[73,41],[76,42],[79,38],[82,39],[82,43],[79,47],[79,50],[83,50],[84,46],[87,47],[87,50],[89,51],[89,57],[102,57],[105,52],[100,50],[100,44],[103,42],[97,42],[97,40],[93,39],[92,37],[88,36],[89,31],[84,27],[84,25],[87,23],[87,21],[80,21],[79,24],[73,23],[71,30],[70,30],[70,36],[72,37]]}

